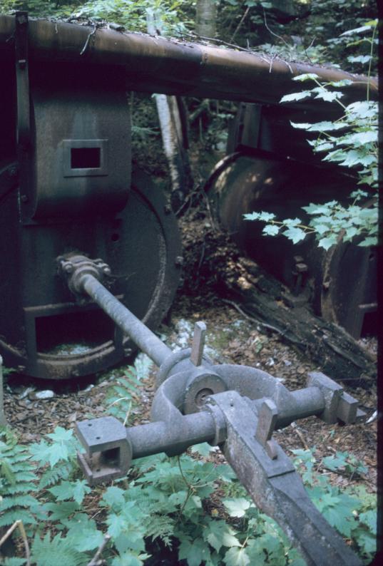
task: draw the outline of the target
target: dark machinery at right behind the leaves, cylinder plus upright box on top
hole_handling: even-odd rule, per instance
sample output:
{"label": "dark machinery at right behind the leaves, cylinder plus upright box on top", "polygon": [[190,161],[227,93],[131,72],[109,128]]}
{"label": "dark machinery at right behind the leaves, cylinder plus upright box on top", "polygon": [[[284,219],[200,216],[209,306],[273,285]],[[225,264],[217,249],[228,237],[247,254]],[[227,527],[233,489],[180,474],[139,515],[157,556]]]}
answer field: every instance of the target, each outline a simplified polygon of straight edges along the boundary
{"label": "dark machinery at right behind the leaves, cylinder plus upright box on top", "polygon": [[[307,113],[305,120],[315,118]],[[262,236],[263,225],[244,222],[253,210],[279,219],[303,218],[302,206],[330,200],[347,202],[357,180],[312,153],[307,135],[292,133],[283,108],[243,104],[228,140],[228,155],[206,183],[220,225],[262,267],[290,288],[297,304],[343,326],[354,338],[371,331],[377,314],[377,253],[356,242],[338,242],[328,252],[313,236],[293,245],[286,237]],[[345,277],[347,274],[347,277]]]}

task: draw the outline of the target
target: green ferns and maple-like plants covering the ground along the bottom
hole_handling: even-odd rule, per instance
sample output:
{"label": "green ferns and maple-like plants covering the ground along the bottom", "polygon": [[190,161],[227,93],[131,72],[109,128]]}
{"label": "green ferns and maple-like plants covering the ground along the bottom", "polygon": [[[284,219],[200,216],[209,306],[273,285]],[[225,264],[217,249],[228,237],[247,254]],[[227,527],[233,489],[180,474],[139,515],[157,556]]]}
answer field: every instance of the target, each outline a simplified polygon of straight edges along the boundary
{"label": "green ferns and maple-like plants covering the ground along the bottom", "polygon": [[[147,371],[148,361],[141,359],[113,384],[109,411],[126,419]],[[208,461],[215,448],[203,444],[182,456],[141,458],[128,478],[93,490],[78,468],[78,450],[73,431],[61,427],[31,446],[1,432],[0,527],[24,523],[31,565],[86,566],[100,548],[108,566],[145,565],[164,552],[188,566],[305,565],[232,468]],[[320,462],[315,448],[292,453],[317,508],[368,563],[375,550],[376,498],[357,483],[340,489],[329,478],[331,472],[355,479],[367,468],[347,452]],[[1,562],[26,564],[22,550]]]}

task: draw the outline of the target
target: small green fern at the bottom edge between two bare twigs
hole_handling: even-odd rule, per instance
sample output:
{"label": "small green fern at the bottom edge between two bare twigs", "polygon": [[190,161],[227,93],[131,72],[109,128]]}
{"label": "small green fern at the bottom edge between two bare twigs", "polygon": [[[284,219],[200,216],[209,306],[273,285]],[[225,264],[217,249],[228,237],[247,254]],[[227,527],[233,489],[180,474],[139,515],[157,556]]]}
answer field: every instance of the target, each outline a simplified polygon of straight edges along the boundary
{"label": "small green fern at the bottom edge between two bare twigs", "polygon": [[44,538],[36,535],[31,550],[31,560],[36,562],[36,566],[83,566],[89,560],[88,556],[73,548],[69,537],[61,538],[58,534],[51,540],[50,532]]}

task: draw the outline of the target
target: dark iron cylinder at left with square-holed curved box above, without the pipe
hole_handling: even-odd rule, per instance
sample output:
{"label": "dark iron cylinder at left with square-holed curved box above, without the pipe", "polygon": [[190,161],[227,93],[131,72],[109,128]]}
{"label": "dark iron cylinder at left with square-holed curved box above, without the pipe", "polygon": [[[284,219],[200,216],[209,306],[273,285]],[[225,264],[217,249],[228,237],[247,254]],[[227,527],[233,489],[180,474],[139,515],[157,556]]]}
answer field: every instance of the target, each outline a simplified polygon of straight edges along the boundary
{"label": "dark iron cylinder at left with square-holed curved box above, without the pipe", "polygon": [[0,29],[0,352],[23,374],[77,379],[133,344],[94,303],[73,300],[56,257],[103,257],[111,292],[154,329],[178,286],[178,227],[160,189],[131,172],[125,68],[41,61],[25,13],[1,16]]}

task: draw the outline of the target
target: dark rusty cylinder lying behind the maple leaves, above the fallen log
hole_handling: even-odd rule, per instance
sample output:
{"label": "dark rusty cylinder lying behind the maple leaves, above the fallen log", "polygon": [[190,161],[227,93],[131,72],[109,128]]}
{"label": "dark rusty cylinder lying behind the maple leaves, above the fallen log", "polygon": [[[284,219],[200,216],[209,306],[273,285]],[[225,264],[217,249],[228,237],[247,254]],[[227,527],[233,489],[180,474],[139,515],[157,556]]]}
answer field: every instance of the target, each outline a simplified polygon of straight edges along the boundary
{"label": "dark rusty cylinder lying behind the maple leaves, above the fallen log", "polygon": [[250,257],[290,287],[297,300],[312,301],[316,314],[359,337],[364,312],[376,303],[374,251],[341,242],[325,252],[312,237],[293,245],[282,236],[262,236],[264,224],[245,222],[242,216],[266,210],[279,218],[305,220],[301,207],[307,202],[327,202],[335,195],[345,201],[355,183],[334,168],[252,150],[218,163],[207,190],[220,225]]}

